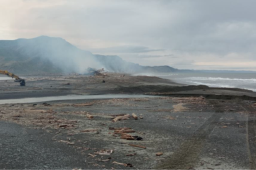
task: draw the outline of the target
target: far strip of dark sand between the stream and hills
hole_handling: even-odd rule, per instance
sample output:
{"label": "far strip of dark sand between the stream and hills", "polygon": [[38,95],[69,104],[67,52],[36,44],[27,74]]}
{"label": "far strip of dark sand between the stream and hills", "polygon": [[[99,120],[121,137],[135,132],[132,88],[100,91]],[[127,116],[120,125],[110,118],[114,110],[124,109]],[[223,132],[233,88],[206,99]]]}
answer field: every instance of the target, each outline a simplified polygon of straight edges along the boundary
{"label": "far strip of dark sand between the stream and hills", "polygon": [[[161,96],[205,96],[215,99],[256,100],[256,92],[240,88],[216,88],[206,85],[185,85],[170,79],[149,76],[110,74],[110,77],[64,75],[28,77],[27,86],[12,80],[0,81],[0,99],[103,94],[154,94]],[[124,77],[122,77],[125,75]],[[105,79],[106,83],[102,83]]]}

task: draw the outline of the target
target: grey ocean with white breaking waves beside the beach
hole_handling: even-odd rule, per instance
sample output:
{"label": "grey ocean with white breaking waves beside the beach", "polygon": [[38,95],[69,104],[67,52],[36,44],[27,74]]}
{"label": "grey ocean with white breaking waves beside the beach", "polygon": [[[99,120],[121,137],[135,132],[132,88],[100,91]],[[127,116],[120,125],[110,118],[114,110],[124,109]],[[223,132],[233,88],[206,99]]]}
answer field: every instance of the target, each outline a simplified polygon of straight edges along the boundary
{"label": "grey ocean with white breaking waves beside the beach", "polygon": [[155,76],[187,85],[243,88],[256,91],[256,73],[174,73]]}

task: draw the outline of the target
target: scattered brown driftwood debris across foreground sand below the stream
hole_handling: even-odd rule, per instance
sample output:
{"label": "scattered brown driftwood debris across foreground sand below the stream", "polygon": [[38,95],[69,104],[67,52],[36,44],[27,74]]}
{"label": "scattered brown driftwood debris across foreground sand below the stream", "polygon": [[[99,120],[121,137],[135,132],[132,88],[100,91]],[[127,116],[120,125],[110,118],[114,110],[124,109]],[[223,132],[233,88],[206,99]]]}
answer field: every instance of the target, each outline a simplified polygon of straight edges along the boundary
{"label": "scattered brown driftwood debris across foreground sand below the stream", "polygon": [[[130,164],[128,163],[129,161],[120,161],[115,157],[115,153],[122,153],[126,158],[133,160],[137,159],[138,156],[144,159],[152,152],[152,145],[150,145],[152,141],[150,141],[150,139],[153,139],[155,134],[145,134],[137,131],[135,127],[122,126],[123,123],[140,123],[143,121],[141,120],[143,119],[142,113],[138,115],[138,113],[132,112],[129,114],[127,114],[127,112],[120,114],[118,114],[118,112],[107,112],[106,114],[104,112],[91,113],[89,111],[92,111],[92,108],[98,109],[97,107],[101,104],[104,105],[103,107],[105,107],[105,105],[109,107],[109,103],[111,103],[111,106],[117,104],[123,106],[126,104],[130,105],[134,102],[147,102],[148,100],[149,99],[144,98],[107,99],[75,104],[52,102],[51,104],[46,103],[43,105],[1,105],[0,119],[27,125],[29,127],[45,129],[47,132],[55,133],[52,140],[67,144],[69,147],[74,147],[78,149],[82,155],[88,155],[89,159],[93,159],[93,166],[105,167],[107,164],[113,164],[120,167],[133,167],[132,164],[135,164],[135,162],[131,162],[132,164]],[[82,137],[80,138],[79,136]],[[96,143],[98,143],[98,141],[99,143],[103,142],[104,144],[105,141],[111,141],[106,142],[108,144],[106,148],[112,149],[94,148],[95,146],[91,146],[91,143],[94,141],[97,141]],[[149,146],[151,148],[147,149]],[[136,152],[137,150],[138,152]],[[129,153],[130,151],[132,151],[132,153]],[[155,155],[157,151],[159,150],[154,150],[154,157],[157,157]],[[113,170],[114,169],[115,168],[113,168]]]}

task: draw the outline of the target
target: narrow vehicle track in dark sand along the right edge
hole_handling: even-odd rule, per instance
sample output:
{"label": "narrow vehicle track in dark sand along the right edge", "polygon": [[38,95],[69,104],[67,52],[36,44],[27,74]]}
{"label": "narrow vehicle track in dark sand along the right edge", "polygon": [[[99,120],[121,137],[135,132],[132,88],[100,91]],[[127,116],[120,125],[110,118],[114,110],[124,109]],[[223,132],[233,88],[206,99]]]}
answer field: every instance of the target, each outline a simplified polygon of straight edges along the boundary
{"label": "narrow vehicle track in dark sand along the right edge", "polygon": [[241,107],[248,113],[246,122],[246,138],[250,170],[256,170],[256,110],[247,103],[241,104]]}

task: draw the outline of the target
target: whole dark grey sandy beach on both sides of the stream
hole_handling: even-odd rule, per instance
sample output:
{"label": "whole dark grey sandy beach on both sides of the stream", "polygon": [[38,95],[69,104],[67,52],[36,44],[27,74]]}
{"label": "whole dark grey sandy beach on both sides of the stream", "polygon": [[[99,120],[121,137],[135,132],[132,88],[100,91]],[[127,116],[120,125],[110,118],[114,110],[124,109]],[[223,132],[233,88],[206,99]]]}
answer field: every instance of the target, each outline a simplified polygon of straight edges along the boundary
{"label": "whole dark grey sandy beach on both sides of the stream", "polygon": [[[256,105],[253,101],[241,98],[241,96],[250,96],[253,99],[253,92],[239,89],[211,89],[207,86],[182,87],[156,77],[121,76],[113,74],[112,77],[104,78],[81,76],[29,78],[25,89],[15,82],[3,82],[1,99],[17,99],[26,94],[31,96],[33,94],[34,97],[46,94],[54,96],[59,93],[162,96],[0,105],[0,120],[3,121],[0,122],[0,126],[13,129],[3,132],[4,128],[1,128],[3,137],[0,138],[0,149],[4,151],[0,155],[0,167],[5,170],[10,168],[253,170],[256,166],[254,140]],[[102,79],[105,79],[106,83],[102,83]],[[3,97],[2,94],[9,98]],[[234,97],[211,99],[207,95]],[[112,121],[116,115],[131,116],[132,113],[139,116],[139,119],[130,117],[118,122]],[[88,115],[93,118],[88,118]],[[6,122],[10,123],[6,125]],[[120,139],[120,134],[112,129],[123,127],[131,128],[135,132],[128,134],[139,136],[143,140]],[[22,132],[15,133],[17,128],[22,132],[28,132],[32,141],[28,141],[30,139],[25,133],[24,135],[20,135],[23,134]],[[9,136],[13,137],[9,139]],[[26,145],[22,144],[23,142],[38,146],[40,145],[38,138],[47,141],[48,144],[45,145],[43,142],[42,148],[37,149],[37,152],[52,150],[54,147],[62,152],[58,154],[64,156],[55,161],[47,161],[46,158],[56,158],[58,154],[42,151],[42,154],[38,155],[33,149],[28,151]],[[145,146],[146,149],[128,144]],[[18,150],[27,152],[22,155]],[[102,150],[113,150],[113,153],[97,154]],[[69,152],[70,155],[76,156],[68,157],[66,154]],[[156,156],[157,152],[162,152],[163,155]],[[29,162],[31,155],[35,155],[36,161]],[[22,156],[23,159],[20,159]],[[61,164],[62,160],[66,163],[70,162],[70,165]],[[133,167],[113,164],[114,161],[129,163]]]}

